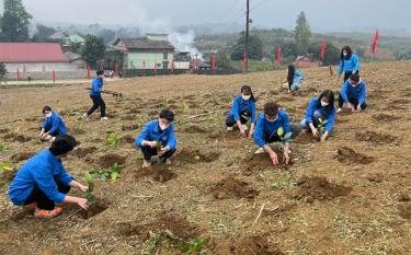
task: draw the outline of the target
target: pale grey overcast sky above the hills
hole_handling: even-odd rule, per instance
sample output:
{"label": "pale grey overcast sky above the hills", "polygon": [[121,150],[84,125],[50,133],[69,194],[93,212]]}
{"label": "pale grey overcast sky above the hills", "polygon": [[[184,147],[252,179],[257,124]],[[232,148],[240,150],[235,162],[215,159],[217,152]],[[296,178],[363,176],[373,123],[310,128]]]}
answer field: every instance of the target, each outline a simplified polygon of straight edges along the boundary
{"label": "pale grey overcast sky above the hills", "polygon": [[[246,0],[23,0],[23,2],[37,22],[101,23],[140,27],[242,23],[246,8]],[[300,11],[306,12],[315,30],[411,27],[411,0],[250,0],[250,2],[254,25],[264,27],[294,27]]]}

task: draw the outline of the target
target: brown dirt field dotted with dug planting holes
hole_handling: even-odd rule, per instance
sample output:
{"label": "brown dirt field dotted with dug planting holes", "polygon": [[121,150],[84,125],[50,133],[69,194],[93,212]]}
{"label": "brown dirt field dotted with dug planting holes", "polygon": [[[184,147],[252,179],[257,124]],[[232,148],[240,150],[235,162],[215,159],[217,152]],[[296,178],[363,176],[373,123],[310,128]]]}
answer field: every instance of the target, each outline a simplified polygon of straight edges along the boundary
{"label": "brown dirt field dotted with dug planting holes", "polygon": [[[224,119],[243,84],[252,85],[259,113],[274,100],[295,123],[309,98],[342,85],[328,68],[301,71],[306,83],[295,95],[278,90],[284,71],[110,82],[125,98],[104,95],[105,123],[100,113],[81,117],[89,85],[0,89],[3,166],[16,171],[48,146],[36,137],[44,105],[80,141],[65,161],[70,174],[81,179],[124,165],[115,182],[94,175],[100,213],[64,206],[49,220],[10,204],[13,171],[5,171],[0,254],[183,254],[187,246],[217,255],[411,254],[411,62],[364,65],[369,108],[339,115],[326,143],[301,134],[293,164],[274,167],[253,153],[253,141],[226,134]],[[134,138],[162,107],[176,114],[178,152],[170,167],[142,171]]]}

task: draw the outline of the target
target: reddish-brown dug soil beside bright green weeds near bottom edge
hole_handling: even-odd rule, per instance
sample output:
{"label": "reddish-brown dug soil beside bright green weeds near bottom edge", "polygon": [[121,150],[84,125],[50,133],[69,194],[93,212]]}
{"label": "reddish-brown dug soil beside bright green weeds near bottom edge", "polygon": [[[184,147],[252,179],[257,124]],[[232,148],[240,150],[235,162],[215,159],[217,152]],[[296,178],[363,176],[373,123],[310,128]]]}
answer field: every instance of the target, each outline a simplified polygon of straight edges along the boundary
{"label": "reddish-brown dug soil beside bright green weeds near bottom edge", "polygon": [[159,215],[153,221],[147,223],[139,222],[122,222],[118,224],[118,231],[123,236],[138,236],[145,241],[149,237],[149,233],[171,232],[173,235],[183,240],[193,240],[201,232],[195,225],[192,225],[185,217],[178,215]]}

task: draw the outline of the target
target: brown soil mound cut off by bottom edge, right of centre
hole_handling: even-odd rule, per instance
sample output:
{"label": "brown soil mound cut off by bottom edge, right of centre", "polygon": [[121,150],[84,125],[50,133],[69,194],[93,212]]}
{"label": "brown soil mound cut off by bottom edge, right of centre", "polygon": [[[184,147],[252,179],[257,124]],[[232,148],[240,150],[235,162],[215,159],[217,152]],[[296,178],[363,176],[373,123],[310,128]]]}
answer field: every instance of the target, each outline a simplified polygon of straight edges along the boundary
{"label": "brown soil mound cut off by bottom edge, right of centre", "polygon": [[242,239],[229,239],[217,243],[213,248],[215,255],[284,255],[278,247],[271,245],[261,235]]}

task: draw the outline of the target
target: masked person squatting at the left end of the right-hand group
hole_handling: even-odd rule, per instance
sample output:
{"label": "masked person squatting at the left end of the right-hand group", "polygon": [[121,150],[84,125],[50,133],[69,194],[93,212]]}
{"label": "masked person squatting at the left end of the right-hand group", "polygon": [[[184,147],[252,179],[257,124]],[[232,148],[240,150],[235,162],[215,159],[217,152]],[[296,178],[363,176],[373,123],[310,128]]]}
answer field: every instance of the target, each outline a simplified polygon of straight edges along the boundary
{"label": "masked person squatting at the left end of the right-hand group", "polygon": [[241,135],[246,136],[248,129],[246,124],[249,120],[251,121],[249,139],[251,139],[254,135],[256,121],[255,98],[251,86],[243,85],[241,88],[241,94],[237,95],[233,100],[231,111],[226,118],[227,131],[232,131],[237,124]]}

